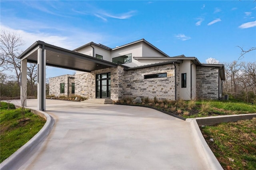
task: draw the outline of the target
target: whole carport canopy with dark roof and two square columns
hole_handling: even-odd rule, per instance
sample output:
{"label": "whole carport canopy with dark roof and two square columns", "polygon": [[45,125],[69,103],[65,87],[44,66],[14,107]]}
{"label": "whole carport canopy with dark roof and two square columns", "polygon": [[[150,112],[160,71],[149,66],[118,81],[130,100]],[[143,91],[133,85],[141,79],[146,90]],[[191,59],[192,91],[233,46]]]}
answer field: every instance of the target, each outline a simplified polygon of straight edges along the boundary
{"label": "whole carport canopy with dark roof and two square columns", "polygon": [[44,111],[45,108],[45,79],[46,79],[46,65],[53,67],[60,67],[64,69],[72,69],[76,71],[91,72],[99,69],[106,69],[109,67],[117,67],[117,64],[97,59],[89,55],[77,53],[57,47],[42,41],[37,41],[24,51],[19,57],[21,60],[21,88],[20,99],[21,105],[26,106],[26,73],[27,62],[38,64],[38,87],[37,99],[38,109]]}

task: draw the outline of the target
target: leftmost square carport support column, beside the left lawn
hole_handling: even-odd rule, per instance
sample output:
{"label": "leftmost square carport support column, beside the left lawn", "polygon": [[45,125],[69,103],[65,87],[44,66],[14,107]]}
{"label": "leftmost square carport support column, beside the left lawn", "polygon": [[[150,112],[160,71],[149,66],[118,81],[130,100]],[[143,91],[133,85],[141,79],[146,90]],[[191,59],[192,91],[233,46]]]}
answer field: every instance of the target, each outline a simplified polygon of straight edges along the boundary
{"label": "leftmost square carport support column, beside the left lawn", "polygon": [[27,59],[20,61],[21,81],[20,81],[20,105],[27,106]]}

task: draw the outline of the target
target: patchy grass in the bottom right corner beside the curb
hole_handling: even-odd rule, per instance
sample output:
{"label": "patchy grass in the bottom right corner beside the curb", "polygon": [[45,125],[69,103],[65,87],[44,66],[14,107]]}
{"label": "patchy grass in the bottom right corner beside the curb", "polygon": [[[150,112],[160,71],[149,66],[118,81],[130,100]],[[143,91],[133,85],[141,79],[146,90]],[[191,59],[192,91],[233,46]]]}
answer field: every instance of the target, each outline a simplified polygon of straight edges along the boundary
{"label": "patchy grass in the bottom right corner beside the curb", "polygon": [[256,169],[256,118],[205,126],[201,131],[224,169]]}

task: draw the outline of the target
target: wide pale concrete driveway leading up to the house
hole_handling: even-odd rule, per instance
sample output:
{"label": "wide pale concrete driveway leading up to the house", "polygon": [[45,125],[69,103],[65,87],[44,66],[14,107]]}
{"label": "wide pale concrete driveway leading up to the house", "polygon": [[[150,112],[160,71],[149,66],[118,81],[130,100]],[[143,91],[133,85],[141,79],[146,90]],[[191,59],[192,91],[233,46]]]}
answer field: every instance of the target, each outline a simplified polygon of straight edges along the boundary
{"label": "wide pale concrete driveway leading up to the house", "polygon": [[[36,99],[28,100],[36,108]],[[46,100],[55,125],[26,170],[206,169],[190,123],[153,109]]]}

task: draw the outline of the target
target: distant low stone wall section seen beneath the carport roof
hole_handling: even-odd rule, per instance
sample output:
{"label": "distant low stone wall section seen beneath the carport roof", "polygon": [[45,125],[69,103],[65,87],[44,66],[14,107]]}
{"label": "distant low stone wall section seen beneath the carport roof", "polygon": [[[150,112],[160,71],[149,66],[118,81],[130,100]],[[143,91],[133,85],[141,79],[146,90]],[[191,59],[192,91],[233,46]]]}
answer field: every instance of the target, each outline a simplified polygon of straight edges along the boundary
{"label": "distant low stone wall section seen beneath the carport roof", "polygon": [[[70,78],[69,78],[70,77]],[[49,79],[49,95],[74,95],[72,94],[72,83],[75,83],[74,75],[61,75],[58,77],[52,77]],[[68,81],[69,79],[69,81]],[[60,83],[65,83],[64,93],[60,93]],[[68,85],[69,83],[69,85]],[[75,85],[76,86],[76,85]],[[68,88],[69,88],[69,95],[68,95]]]}

